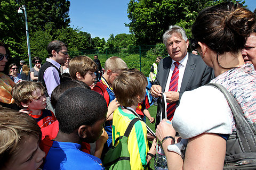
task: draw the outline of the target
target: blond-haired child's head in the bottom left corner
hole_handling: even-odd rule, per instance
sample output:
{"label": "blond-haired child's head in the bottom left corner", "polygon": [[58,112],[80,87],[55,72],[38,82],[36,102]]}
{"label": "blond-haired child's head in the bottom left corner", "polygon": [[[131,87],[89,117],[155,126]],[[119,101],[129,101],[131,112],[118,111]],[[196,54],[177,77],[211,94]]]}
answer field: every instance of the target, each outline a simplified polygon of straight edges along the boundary
{"label": "blond-haired child's head in the bottom left corner", "polygon": [[36,170],[45,152],[39,148],[41,129],[25,113],[0,107],[0,169]]}

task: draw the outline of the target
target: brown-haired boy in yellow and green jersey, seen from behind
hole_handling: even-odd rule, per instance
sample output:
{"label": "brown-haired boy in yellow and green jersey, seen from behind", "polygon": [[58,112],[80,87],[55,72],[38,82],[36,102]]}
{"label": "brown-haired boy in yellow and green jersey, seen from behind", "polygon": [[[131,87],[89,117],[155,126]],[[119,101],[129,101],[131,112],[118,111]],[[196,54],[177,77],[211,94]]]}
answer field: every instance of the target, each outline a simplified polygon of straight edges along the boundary
{"label": "brown-haired boy in yellow and green jersey, seen from behind", "polygon": [[[121,104],[113,114],[113,145],[135,115],[138,103],[145,98],[147,78],[137,69],[122,71],[113,82],[113,90]],[[128,151],[132,169],[144,169],[147,165],[147,128],[143,121],[134,124],[128,138]]]}

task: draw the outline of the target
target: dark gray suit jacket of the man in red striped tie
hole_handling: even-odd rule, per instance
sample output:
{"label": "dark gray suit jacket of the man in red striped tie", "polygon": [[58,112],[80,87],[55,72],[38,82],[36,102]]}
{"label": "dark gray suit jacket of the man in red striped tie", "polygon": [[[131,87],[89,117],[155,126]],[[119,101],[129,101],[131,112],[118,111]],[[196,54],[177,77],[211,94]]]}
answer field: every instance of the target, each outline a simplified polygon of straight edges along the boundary
{"label": "dark gray suit jacket of the man in red striped tie", "polygon": [[[154,84],[160,85],[162,87],[162,92],[165,91],[165,86],[170,72],[171,64],[171,57],[165,57],[158,64],[156,80]],[[213,69],[204,63],[201,56],[188,53],[188,61],[179,91],[179,101],[183,92],[194,90],[200,86],[204,86],[205,84],[209,83],[213,78]],[[177,101],[177,106],[179,105],[179,101]],[[158,100],[157,113],[161,109],[161,102],[160,100]],[[157,124],[159,124],[159,115],[156,116],[156,125]]]}

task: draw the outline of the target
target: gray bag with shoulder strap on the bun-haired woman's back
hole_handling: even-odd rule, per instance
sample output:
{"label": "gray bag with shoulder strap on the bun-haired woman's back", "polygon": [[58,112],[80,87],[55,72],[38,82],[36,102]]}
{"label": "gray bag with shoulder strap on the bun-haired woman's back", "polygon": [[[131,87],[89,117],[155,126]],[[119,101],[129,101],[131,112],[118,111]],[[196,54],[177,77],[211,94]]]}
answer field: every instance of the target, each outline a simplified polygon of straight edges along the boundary
{"label": "gray bag with shoulder strap on the bun-haired woman's back", "polygon": [[213,86],[222,92],[236,122],[236,134],[231,134],[227,140],[223,169],[256,169],[255,123],[249,124],[245,120],[241,107],[225,87],[216,83],[206,85]]}

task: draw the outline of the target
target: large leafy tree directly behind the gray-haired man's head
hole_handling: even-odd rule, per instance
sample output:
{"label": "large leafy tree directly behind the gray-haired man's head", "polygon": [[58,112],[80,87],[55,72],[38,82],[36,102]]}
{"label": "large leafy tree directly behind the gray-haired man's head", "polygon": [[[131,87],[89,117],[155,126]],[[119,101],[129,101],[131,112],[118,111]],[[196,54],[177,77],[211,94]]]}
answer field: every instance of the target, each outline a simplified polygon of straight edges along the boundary
{"label": "large leafy tree directly behind the gray-haired man's head", "polygon": [[131,0],[128,8],[130,23],[137,45],[155,45],[170,25],[178,24],[190,36],[190,27],[203,8],[223,0]]}

